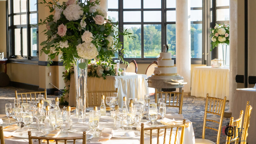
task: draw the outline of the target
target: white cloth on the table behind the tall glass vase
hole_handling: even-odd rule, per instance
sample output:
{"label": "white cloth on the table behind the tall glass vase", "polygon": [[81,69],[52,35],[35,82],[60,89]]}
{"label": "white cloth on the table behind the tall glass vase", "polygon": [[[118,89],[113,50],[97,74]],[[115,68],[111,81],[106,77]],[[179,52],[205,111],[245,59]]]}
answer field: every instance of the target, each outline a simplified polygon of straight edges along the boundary
{"label": "white cloth on the table behind the tall glass vase", "polygon": [[[72,80],[73,79],[73,80]],[[125,76],[106,76],[104,80],[102,77],[88,77],[87,89],[88,91],[112,91],[118,88],[119,106],[123,105],[123,97],[144,99],[144,95],[148,94],[147,75],[127,73]],[[76,103],[75,81],[74,75],[71,77],[69,105],[75,106]]]}

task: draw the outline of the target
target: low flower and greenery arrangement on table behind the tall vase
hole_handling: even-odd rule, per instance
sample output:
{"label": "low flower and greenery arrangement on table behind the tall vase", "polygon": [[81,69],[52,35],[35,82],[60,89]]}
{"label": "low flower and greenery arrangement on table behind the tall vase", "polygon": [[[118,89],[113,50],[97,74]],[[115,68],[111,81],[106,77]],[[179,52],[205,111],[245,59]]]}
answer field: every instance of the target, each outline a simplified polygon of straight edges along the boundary
{"label": "low flower and greenery arrangement on table behind the tall vase", "polygon": [[103,79],[106,79],[106,76],[115,76],[114,65],[104,62],[91,63],[88,65],[87,75],[89,77],[103,77]]}

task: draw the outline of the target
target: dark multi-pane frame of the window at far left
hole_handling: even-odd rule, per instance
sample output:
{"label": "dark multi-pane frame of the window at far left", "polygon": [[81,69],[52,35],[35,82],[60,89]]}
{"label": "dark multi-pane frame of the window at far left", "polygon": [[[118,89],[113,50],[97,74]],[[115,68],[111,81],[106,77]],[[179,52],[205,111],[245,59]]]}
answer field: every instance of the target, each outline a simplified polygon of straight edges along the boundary
{"label": "dark multi-pane frame of the window at far left", "polygon": [[[38,0],[36,0],[36,11],[29,11],[30,7],[30,1],[26,0],[26,11],[27,12],[20,12],[19,13],[13,13],[13,2],[15,0],[7,0],[6,1],[6,45],[7,45],[7,58],[8,61],[16,62],[16,63],[28,63],[28,64],[36,64],[36,62],[39,60],[39,45],[38,45],[38,26],[33,26],[38,23]],[[10,3],[10,9],[9,9],[9,3]],[[21,7],[21,4],[20,4]],[[21,8],[20,8],[21,9]],[[9,14],[10,11],[10,14]],[[30,14],[36,13],[37,15],[37,23],[36,24],[30,24]],[[26,15],[27,24],[21,24],[21,15]],[[14,16],[20,15],[20,25],[14,25]],[[10,21],[9,21],[10,17]],[[9,26],[10,24],[10,26]],[[20,28],[20,55],[15,54],[15,29]],[[23,36],[22,36],[22,29],[27,28],[27,54],[23,55]],[[31,56],[31,29],[36,28],[36,38],[37,38],[37,52],[36,56]]]}

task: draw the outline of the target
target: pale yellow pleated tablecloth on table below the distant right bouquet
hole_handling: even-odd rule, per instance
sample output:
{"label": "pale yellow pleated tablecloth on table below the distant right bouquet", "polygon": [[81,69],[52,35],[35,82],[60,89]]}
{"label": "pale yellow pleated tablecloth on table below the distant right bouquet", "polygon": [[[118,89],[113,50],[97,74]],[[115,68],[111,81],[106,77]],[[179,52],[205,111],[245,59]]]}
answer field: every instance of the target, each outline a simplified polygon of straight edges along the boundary
{"label": "pale yellow pleated tablecloth on table below the distant right bouquet", "polygon": [[191,79],[191,95],[229,100],[229,68],[195,67]]}

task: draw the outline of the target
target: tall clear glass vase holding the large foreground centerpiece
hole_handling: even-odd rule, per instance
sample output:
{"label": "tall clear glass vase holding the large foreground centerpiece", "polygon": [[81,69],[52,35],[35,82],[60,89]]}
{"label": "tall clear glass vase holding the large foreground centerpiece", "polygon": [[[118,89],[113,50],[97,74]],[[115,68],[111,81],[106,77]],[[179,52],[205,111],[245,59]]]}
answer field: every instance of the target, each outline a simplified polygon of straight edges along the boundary
{"label": "tall clear glass vase holding the large foreground centerpiece", "polygon": [[85,108],[87,96],[87,59],[74,59],[76,83],[76,111],[79,122],[85,122]]}

